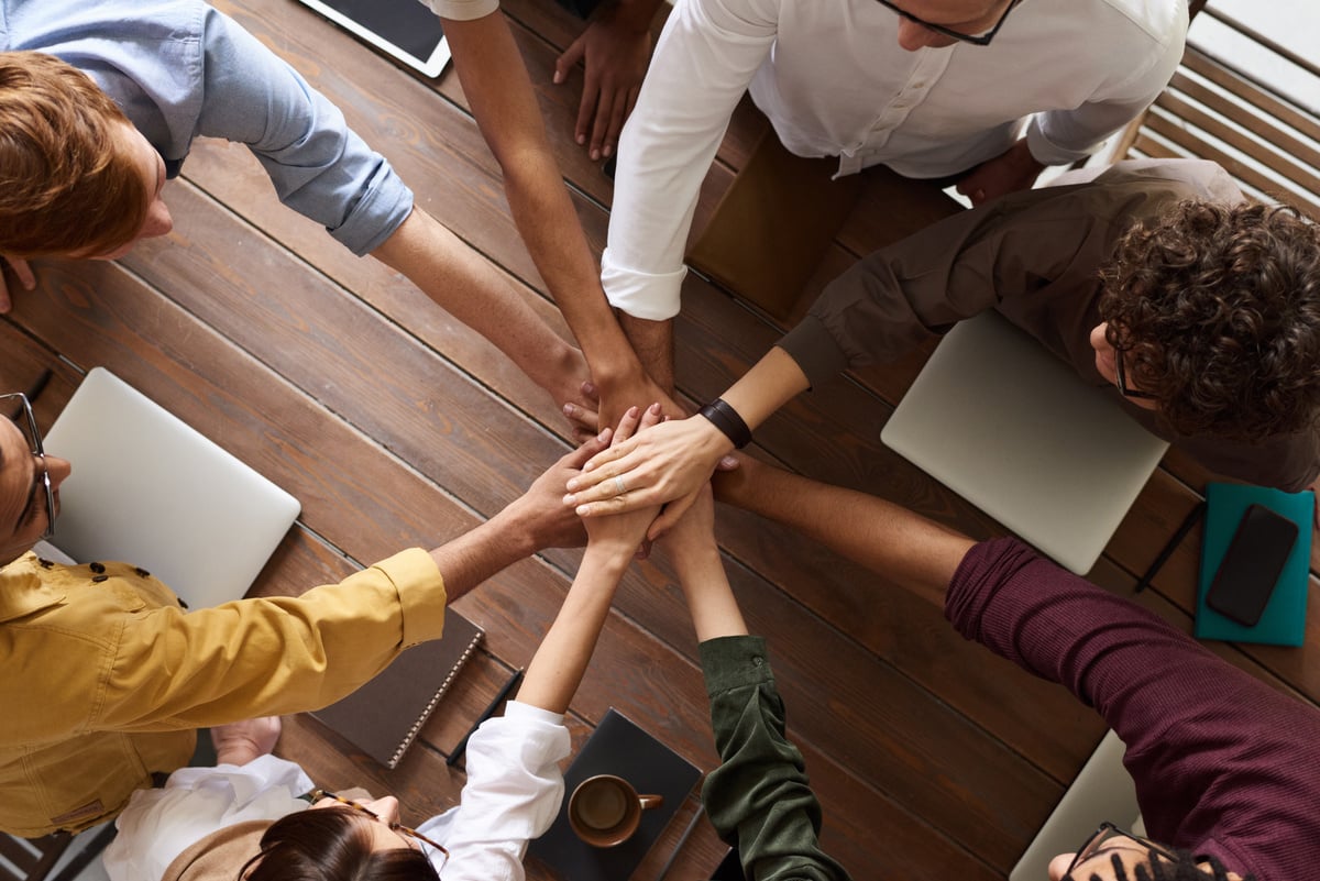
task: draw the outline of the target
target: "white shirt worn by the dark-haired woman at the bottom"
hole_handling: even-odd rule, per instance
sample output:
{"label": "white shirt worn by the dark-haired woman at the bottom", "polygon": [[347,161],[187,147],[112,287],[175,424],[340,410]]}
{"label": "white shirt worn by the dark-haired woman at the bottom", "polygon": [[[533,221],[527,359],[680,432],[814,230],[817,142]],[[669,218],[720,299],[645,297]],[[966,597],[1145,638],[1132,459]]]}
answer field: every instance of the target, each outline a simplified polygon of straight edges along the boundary
{"label": "white shirt worn by the dark-haired woman at the bottom", "polygon": [[[523,881],[528,840],[550,827],[564,801],[558,762],[570,748],[561,714],[516,700],[477,729],[458,806],[417,827],[449,849],[445,881]],[[305,810],[297,797],[312,789],[298,765],[275,756],[180,769],[164,789],[133,793],[119,815],[104,853],[110,881],[158,881],[174,857],[226,826]],[[442,855],[424,851],[438,870]]]}

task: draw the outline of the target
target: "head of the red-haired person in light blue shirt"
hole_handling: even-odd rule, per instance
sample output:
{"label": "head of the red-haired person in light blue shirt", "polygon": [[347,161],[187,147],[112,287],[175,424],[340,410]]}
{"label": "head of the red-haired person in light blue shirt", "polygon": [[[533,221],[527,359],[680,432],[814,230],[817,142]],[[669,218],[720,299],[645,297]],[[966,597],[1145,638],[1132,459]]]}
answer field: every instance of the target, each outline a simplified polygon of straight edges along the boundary
{"label": "head of the red-haired person in light blue shirt", "polygon": [[0,253],[114,258],[173,220],[165,165],[78,69],[0,53]]}

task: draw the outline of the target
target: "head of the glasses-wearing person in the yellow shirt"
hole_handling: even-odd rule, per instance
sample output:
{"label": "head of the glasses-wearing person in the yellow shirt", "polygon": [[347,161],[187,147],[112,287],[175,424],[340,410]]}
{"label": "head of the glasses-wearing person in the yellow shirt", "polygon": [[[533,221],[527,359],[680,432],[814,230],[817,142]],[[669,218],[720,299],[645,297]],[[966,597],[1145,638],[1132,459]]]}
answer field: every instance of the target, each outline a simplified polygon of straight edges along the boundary
{"label": "head of the glasses-wearing person in the yellow shirt", "polygon": [[[0,564],[49,538],[59,512],[59,484],[71,467],[45,455],[32,408],[22,394],[0,396]],[[49,481],[49,483],[48,483]],[[49,492],[48,492],[49,487]]]}

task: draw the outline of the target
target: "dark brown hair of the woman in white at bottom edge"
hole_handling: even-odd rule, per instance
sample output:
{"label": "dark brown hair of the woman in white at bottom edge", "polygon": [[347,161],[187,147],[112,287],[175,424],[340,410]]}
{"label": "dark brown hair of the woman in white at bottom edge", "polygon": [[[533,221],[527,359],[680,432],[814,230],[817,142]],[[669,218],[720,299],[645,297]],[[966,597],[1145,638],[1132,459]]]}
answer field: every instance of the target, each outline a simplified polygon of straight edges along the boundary
{"label": "dark brown hair of the woman in white at bottom edge", "polygon": [[239,870],[240,881],[440,881],[430,860],[400,847],[371,849],[363,814],[323,807],[280,818],[261,849]]}

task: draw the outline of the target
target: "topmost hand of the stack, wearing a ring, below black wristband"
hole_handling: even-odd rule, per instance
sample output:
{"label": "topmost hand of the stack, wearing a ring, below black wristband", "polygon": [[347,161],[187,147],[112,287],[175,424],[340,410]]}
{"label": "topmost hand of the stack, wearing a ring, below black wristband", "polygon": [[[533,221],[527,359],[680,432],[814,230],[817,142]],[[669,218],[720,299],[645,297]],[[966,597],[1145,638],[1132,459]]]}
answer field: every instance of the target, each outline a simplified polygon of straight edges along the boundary
{"label": "topmost hand of the stack, wearing a ring, below black wristband", "polygon": [[668,502],[647,530],[653,539],[682,517],[731,450],[729,438],[705,417],[671,419],[595,454],[568,481],[564,504],[590,518]]}

